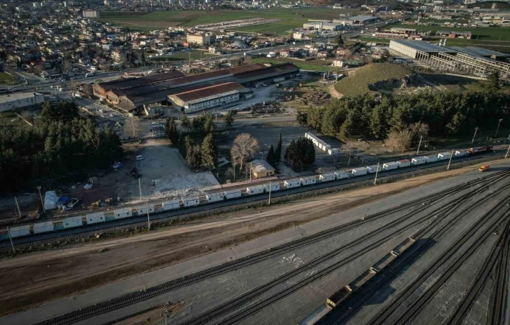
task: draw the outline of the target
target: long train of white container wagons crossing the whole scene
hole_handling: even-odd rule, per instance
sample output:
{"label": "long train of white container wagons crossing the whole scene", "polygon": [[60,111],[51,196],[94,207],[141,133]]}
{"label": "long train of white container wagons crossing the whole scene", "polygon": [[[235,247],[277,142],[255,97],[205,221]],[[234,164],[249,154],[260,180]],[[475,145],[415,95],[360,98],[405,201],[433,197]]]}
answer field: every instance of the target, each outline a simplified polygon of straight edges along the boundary
{"label": "long train of white container wagons crossing the whole scene", "polygon": [[124,218],[131,218],[138,215],[146,215],[148,213],[162,213],[164,211],[172,211],[181,208],[188,208],[192,206],[199,206],[203,204],[211,204],[216,201],[225,201],[237,199],[240,197],[260,195],[268,192],[276,192],[280,190],[289,190],[295,187],[310,186],[318,183],[331,182],[334,180],[342,180],[346,178],[354,178],[360,175],[367,175],[371,173],[390,171],[397,168],[406,168],[408,166],[429,164],[436,161],[449,160],[466,155],[482,154],[492,150],[492,146],[471,148],[464,151],[442,152],[440,154],[433,154],[429,156],[414,157],[412,159],[402,159],[398,161],[391,161],[385,164],[373,166],[365,166],[360,168],[353,168],[350,170],[339,170],[331,173],[323,173],[320,175],[306,176],[302,178],[292,178],[287,180],[275,180],[274,182],[263,185],[249,185],[246,189],[225,190],[218,192],[211,192],[206,194],[206,199],[201,200],[200,197],[183,197],[181,199],[174,199],[169,201],[151,202],[149,204],[142,204],[140,206],[131,206],[129,208],[118,208],[112,211],[101,211],[89,213],[85,215],[72,216],[59,220],[46,220],[39,223],[31,223],[27,225],[18,225],[11,227],[10,230],[0,232],[0,241],[8,240],[9,234],[11,238],[30,236],[32,234],[42,234],[45,232],[55,232],[58,230],[65,230],[74,227],[83,227],[85,225],[93,225],[96,223],[106,223],[112,220],[119,220]]}

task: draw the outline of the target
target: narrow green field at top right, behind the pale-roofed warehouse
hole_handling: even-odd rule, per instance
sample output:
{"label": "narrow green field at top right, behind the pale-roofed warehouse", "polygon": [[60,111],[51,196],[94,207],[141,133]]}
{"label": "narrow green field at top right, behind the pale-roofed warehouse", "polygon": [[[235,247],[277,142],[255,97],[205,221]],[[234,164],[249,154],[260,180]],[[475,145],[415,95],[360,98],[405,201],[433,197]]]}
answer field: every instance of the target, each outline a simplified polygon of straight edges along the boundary
{"label": "narrow green field at top right, behind the pale-roofed warehouse", "polygon": [[[510,28],[504,27],[466,27],[466,28],[457,28],[457,27],[441,27],[441,26],[421,26],[421,25],[408,25],[408,24],[395,24],[388,25],[385,29],[389,29],[390,27],[406,27],[406,28],[415,28],[417,31],[428,32],[432,31],[431,36],[435,34],[438,30],[451,30],[458,32],[471,32],[471,41],[510,41]],[[467,39],[463,39],[462,41],[469,41]]]}

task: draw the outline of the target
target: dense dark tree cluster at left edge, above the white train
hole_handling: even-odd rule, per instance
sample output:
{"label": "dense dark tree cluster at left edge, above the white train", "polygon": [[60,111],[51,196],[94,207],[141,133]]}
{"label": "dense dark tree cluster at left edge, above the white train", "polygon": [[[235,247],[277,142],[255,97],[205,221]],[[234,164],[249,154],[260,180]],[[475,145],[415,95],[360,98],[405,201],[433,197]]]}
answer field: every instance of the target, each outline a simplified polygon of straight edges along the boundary
{"label": "dense dark tree cluster at left edge, above the white train", "polygon": [[0,191],[107,168],[124,157],[121,145],[111,128],[80,117],[73,102],[45,102],[34,127],[0,130]]}

